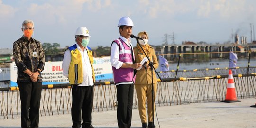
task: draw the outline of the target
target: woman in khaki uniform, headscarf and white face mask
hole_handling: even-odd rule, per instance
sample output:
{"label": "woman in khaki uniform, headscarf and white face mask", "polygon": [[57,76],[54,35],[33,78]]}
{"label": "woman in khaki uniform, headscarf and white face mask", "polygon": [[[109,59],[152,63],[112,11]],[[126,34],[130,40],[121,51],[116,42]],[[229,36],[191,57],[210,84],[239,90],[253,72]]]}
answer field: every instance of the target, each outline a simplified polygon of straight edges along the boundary
{"label": "woman in khaki uniform, headscarf and white face mask", "polygon": [[[150,61],[153,61],[153,66],[156,69],[158,67],[157,58],[155,55],[155,50],[153,47],[147,44],[148,36],[145,31],[138,33],[138,37],[143,40],[139,40],[140,45],[143,50],[148,55]],[[141,47],[137,44],[134,47],[134,55],[135,55],[135,63],[140,63],[146,55],[144,54]],[[135,79],[135,89],[138,98],[138,110],[142,123],[142,128],[155,128],[153,126],[153,112],[152,112],[152,77],[151,77],[151,69],[148,66],[149,61],[147,61],[145,67],[142,67],[136,73]],[[154,85],[154,103],[157,89],[157,78],[155,72],[153,71],[153,85]],[[147,103],[147,115],[148,115],[148,125],[147,125],[147,117],[146,117],[146,103]],[[155,105],[154,105],[155,110]]]}

